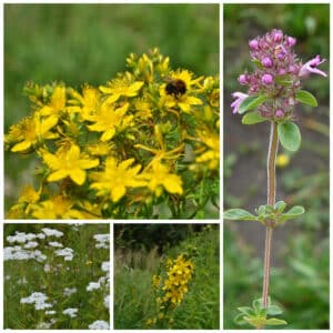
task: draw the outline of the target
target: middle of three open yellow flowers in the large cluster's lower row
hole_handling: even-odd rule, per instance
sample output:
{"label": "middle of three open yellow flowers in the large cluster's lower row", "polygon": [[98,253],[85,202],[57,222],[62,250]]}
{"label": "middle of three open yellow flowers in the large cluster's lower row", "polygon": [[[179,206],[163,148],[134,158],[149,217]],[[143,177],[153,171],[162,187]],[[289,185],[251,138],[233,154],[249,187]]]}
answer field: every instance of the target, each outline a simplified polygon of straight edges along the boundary
{"label": "middle of three open yellow flowers in the large cluster's lower row", "polygon": [[127,188],[144,185],[144,182],[137,179],[141,165],[131,168],[134,159],[119,162],[114,158],[108,158],[103,171],[90,174],[94,181],[90,188],[98,191],[98,196],[110,196],[113,202],[118,202],[125,195]]}

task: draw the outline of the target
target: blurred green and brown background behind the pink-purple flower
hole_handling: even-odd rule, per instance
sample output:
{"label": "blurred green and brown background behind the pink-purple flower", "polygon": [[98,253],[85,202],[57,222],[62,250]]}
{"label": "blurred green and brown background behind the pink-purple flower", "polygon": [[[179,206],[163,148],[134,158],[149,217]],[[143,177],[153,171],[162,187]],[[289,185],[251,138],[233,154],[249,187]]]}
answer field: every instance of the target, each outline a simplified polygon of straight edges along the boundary
{"label": "blurred green and brown background behind the pink-purple flower", "polygon": [[[252,70],[249,40],[271,29],[295,37],[294,48],[303,63],[321,54],[330,58],[329,4],[225,4],[224,6],[224,209],[253,211],[265,203],[269,125],[242,125],[231,110],[231,92]],[[321,65],[329,73],[329,61]],[[273,233],[273,269],[270,295],[284,310],[289,325],[282,329],[329,329],[329,161],[330,81],[311,75],[305,90],[319,100],[317,108],[296,110],[302,132],[301,150],[287,154],[278,168],[276,199],[301,204],[306,213]],[[261,297],[264,228],[258,223],[224,224],[224,329],[236,326],[238,306]],[[248,327],[246,327],[248,329]]]}

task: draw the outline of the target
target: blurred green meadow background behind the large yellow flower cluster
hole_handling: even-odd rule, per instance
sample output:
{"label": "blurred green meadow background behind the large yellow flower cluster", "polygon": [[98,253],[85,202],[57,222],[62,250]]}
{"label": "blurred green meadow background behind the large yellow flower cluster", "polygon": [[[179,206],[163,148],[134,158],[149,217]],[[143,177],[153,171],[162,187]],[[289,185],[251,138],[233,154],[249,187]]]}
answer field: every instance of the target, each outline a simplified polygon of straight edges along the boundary
{"label": "blurred green meadow background behind the large yellow flower cluster", "polygon": [[[153,47],[174,69],[216,74],[219,4],[4,4],[4,131],[29,114],[27,81],[99,85]],[[6,154],[6,209],[34,167]]]}

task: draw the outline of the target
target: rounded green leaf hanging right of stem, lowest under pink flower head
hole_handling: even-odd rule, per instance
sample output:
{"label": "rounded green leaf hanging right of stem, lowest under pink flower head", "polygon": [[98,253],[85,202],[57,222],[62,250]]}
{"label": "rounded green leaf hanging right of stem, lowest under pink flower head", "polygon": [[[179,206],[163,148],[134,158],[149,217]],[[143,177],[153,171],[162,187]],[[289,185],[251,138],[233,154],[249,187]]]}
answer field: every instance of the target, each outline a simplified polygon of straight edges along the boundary
{"label": "rounded green leaf hanging right of stem, lowest under pink flower head", "polygon": [[278,124],[278,134],[281,144],[290,150],[297,151],[301,147],[301,132],[299,127],[293,122],[284,122]]}

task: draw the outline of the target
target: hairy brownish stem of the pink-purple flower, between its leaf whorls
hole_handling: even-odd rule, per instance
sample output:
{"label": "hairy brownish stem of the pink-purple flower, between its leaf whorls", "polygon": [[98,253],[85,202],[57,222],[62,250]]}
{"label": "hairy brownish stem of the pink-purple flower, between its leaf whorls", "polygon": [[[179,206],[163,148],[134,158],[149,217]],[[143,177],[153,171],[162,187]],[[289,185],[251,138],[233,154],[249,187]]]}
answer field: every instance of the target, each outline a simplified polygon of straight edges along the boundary
{"label": "hairy brownish stem of the pink-purple flower, between its leaf whorls", "polygon": [[[278,123],[271,122],[270,148],[268,155],[268,204],[275,204],[275,160],[279,147]],[[264,278],[262,287],[262,305],[268,307],[270,268],[271,268],[271,244],[274,221],[266,221],[265,254],[264,254]]]}

